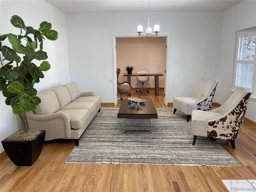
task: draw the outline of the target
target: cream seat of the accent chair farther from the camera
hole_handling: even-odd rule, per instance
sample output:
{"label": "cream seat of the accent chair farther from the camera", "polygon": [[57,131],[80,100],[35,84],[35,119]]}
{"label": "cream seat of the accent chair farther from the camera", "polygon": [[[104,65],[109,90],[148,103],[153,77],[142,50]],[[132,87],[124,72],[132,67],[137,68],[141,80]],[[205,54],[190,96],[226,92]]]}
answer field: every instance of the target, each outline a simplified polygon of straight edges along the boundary
{"label": "cream seat of the accent chair farther from the camera", "polygon": [[199,98],[194,97],[174,97],[173,108],[178,109],[187,115],[191,115],[192,110],[197,108],[196,102],[199,100]]}

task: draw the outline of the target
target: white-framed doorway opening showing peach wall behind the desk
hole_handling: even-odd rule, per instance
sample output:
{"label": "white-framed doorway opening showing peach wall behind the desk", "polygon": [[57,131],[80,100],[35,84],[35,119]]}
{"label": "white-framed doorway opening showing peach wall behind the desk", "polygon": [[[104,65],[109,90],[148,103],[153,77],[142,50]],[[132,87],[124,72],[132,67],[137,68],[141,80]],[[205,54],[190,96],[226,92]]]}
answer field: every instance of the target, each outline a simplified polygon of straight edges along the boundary
{"label": "white-framed doorway opening showing peach wall behind the desk", "polygon": [[[161,73],[159,76],[159,96],[158,102],[163,105],[168,104],[167,88],[168,88],[168,58],[169,58],[169,35],[158,37],[142,38],[138,36],[113,36],[114,48],[114,104],[118,103],[117,98],[117,79],[116,68],[120,68],[121,72],[118,77],[118,82],[127,81],[124,76],[127,73],[126,66],[134,66],[133,73],[139,71],[147,71],[148,73]],[[144,83],[144,88],[150,92],[140,91],[137,89],[142,87],[142,84],[137,81],[136,76],[130,77],[132,92],[122,95],[123,97],[138,97],[138,98],[153,98],[155,96],[155,80],[154,76],[150,76],[150,80]],[[156,98],[156,97],[154,97]]]}

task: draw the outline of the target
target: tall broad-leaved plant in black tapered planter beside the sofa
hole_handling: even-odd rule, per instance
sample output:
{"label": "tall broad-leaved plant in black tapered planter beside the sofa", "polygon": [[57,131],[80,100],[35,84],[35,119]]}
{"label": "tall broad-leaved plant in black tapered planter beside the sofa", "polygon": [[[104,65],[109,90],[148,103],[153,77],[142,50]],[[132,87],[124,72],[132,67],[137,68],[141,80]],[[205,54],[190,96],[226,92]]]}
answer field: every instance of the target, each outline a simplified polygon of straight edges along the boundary
{"label": "tall broad-leaved plant in black tapered planter beside the sofa", "polygon": [[[34,84],[39,83],[40,78],[44,78],[43,71],[50,69],[48,61],[43,61],[37,66],[32,60],[40,61],[48,58],[47,53],[43,51],[44,37],[56,40],[58,32],[52,30],[52,24],[46,21],[40,24],[38,30],[26,26],[22,18],[17,15],[12,16],[10,22],[14,27],[20,28],[20,33],[0,36],[0,90],[6,97],[6,105],[10,105],[12,112],[20,116],[24,130],[2,140],[2,145],[15,165],[31,166],[42,151],[45,130],[29,130],[22,115],[35,110],[41,102],[36,96],[37,90]],[[12,47],[2,45],[5,40],[6,44]],[[23,57],[20,58],[17,53],[22,54]]]}

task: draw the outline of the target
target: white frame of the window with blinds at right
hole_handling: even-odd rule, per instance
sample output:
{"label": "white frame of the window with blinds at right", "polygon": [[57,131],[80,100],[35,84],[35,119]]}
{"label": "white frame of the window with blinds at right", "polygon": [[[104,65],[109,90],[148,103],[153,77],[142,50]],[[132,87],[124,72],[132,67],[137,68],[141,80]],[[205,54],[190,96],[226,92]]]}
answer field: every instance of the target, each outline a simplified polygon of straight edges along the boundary
{"label": "white frame of the window with blinds at right", "polygon": [[[248,90],[252,90],[253,97],[256,98],[256,53],[254,54],[254,62],[248,62],[253,63],[253,74],[252,74],[252,88],[242,87],[242,86],[236,86],[236,70],[237,70],[237,64],[239,63],[238,60],[238,49],[239,49],[239,38],[241,36],[246,35],[256,35],[256,28],[251,30],[241,30],[237,31],[236,33],[236,47],[235,47],[235,58],[234,58],[234,72],[233,72],[233,82],[232,82],[232,91],[234,91],[236,88],[241,87]],[[247,62],[245,62],[247,63]]]}

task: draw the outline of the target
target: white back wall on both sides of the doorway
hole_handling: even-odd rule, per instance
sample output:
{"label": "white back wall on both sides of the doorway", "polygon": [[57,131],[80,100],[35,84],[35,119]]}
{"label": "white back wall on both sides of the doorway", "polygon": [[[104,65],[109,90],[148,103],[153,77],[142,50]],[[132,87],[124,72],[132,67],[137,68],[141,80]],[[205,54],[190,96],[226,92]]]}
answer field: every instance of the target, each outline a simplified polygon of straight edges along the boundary
{"label": "white back wall on both sides of the doorway", "polygon": [[[151,26],[170,34],[168,102],[203,77],[218,79],[222,18],[222,11],[150,13]],[[147,25],[147,13],[66,14],[66,22],[70,81],[114,102],[112,35],[136,34],[138,24]]]}

